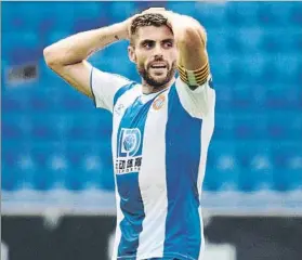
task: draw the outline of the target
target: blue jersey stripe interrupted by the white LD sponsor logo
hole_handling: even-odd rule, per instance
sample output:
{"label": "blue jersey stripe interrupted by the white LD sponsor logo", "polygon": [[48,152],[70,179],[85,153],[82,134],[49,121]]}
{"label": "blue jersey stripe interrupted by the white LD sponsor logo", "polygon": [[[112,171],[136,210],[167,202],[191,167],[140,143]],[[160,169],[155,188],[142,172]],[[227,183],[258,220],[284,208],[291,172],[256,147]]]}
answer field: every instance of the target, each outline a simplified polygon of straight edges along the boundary
{"label": "blue jersey stripe interrupted by the white LD sponsor logo", "polygon": [[[130,105],[120,123],[117,133],[117,146],[120,146],[119,138],[122,129],[139,129],[141,143],[134,156],[141,156],[143,150],[144,130],[146,116],[152,101],[143,104],[140,99]],[[117,151],[118,157],[119,151]],[[121,157],[122,158],[122,157]],[[118,246],[118,257],[135,256],[139,247],[139,236],[142,232],[142,223],[145,218],[144,205],[142,202],[139,185],[139,172],[116,174],[117,190],[120,196],[120,209],[123,219],[119,223],[121,238]]]}

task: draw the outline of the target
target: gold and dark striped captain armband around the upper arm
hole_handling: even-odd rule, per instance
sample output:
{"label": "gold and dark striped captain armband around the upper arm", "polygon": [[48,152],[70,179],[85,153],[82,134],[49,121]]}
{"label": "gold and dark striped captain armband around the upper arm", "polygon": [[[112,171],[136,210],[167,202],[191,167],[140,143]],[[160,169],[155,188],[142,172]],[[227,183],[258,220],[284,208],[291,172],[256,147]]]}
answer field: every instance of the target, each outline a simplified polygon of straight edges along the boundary
{"label": "gold and dark striped captain armband around the upper arm", "polygon": [[188,86],[198,87],[207,81],[210,74],[210,66],[207,63],[201,68],[195,70],[188,70],[185,67],[179,65],[179,73],[182,81],[186,82]]}

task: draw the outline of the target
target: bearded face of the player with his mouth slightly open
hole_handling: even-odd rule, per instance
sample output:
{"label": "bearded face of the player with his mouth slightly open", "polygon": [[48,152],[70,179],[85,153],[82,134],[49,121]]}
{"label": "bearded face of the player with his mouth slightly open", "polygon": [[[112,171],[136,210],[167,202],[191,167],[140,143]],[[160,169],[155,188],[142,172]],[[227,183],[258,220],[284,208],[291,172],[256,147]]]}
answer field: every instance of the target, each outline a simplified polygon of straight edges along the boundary
{"label": "bearded face of the player with his mouth slightly open", "polygon": [[169,27],[140,27],[134,44],[130,58],[147,84],[158,88],[174,77],[178,49]]}

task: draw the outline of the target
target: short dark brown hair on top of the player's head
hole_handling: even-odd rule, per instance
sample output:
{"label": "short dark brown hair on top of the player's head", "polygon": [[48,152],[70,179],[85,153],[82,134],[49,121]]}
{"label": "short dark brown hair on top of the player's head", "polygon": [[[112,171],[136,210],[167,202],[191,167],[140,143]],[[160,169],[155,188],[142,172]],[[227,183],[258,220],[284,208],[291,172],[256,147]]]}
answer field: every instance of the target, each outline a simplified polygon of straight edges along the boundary
{"label": "short dark brown hair on top of the player's head", "polygon": [[[131,36],[135,35],[140,27],[144,26],[156,26],[160,27],[162,25],[168,26],[168,20],[159,13],[146,13],[135,17],[132,22],[130,32]],[[169,27],[169,26],[168,26]]]}

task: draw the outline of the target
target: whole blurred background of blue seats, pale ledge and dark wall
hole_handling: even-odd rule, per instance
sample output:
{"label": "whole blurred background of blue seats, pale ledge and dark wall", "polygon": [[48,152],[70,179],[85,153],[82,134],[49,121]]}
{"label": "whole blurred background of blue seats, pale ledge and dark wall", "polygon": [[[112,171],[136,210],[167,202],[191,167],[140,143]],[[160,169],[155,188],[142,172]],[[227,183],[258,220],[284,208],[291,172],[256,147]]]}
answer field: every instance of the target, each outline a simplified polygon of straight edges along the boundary
{"label": "whole blurred background of blue seats, pale ledge and dark wall", "polygon": [[[1,2],[1,259],[109,258],[111,117],[49,69],[42,51],[158,5],[208,31],[216,113],[206,260],[301,259],[302,2],[222,1]],[[127,46],[90,62],[140,81]]]}

